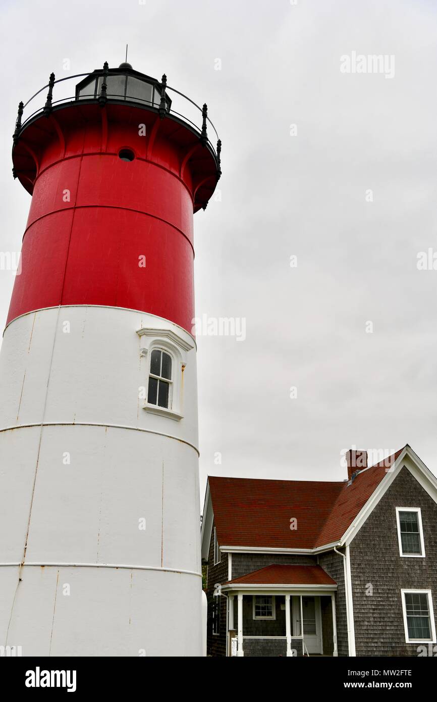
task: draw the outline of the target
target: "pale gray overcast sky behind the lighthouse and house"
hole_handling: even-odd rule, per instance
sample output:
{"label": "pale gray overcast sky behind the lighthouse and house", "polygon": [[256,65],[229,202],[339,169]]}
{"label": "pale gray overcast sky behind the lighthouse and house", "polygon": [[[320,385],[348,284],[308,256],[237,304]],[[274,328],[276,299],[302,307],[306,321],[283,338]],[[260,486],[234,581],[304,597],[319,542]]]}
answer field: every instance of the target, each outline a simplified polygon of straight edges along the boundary
{"label": "pale gray overcast sky behind the lighthouse and house", "polygon": [[[135,69],[208,102],[223,176],[194,218],[196,314],[244,319],[246,339],[198,339],[201,500],[208,474],[343,479],[352,445],[408,443],[436,474],[437,270],[417,255],[437,253],[437,4],[3,0],[1,15],[2,251],[20,250],[30,202],[11,175],[18,101],[52,70],[116,67],[128,43]],[[342,72],[353,52],[386,70]],[[2,327],[12,286],[0,271]]]}

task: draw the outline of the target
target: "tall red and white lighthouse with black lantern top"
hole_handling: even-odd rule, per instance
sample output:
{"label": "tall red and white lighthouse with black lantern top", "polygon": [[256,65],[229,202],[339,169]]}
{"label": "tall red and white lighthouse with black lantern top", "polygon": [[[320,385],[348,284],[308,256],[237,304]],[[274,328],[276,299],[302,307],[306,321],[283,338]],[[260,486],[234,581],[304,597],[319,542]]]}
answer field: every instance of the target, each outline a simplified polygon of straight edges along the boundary
{"label": "tall red and white lighthouse with black lantern top", "polygon": [[128,63],[20,102],[0,644],[23,656],[203,654],[193,214],[220,150],[206,105]]}

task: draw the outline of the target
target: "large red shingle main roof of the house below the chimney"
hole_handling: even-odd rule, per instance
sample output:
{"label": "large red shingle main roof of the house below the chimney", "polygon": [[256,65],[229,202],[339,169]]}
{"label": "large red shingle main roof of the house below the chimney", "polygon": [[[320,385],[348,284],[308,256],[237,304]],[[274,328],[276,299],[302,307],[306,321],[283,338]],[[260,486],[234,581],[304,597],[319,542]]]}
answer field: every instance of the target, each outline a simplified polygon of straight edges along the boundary
{"label": "large red shingle main roof of the house below the chimney", "polygon": [[[218,542],[259,548],[316,548],[337,542],[401,451],[362,470],[350,485],[210,476]],[[290,529],[290,519],[296,519],[297,529]]]}

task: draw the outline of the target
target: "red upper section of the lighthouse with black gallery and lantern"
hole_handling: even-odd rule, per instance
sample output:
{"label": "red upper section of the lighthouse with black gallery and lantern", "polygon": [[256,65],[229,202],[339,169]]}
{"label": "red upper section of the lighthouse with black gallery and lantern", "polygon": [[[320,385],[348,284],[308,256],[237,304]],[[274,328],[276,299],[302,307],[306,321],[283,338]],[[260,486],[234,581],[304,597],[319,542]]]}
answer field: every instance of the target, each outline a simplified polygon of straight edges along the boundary
{"label": "red upper section of the lighthouse with black gallery and lantern", "polygon": [[[149,86],[150,104],[130,96],[129,81]],[[46,307],[107,305],[191,331],[193,213],[220,178],[206,106],[198,129],[171,111],[165,79],[123,68],[82,84],[85,96],[79,84],[60,104],[49,84],[48,105],[15,131],[15,176],[32,206],[8,322]]]}

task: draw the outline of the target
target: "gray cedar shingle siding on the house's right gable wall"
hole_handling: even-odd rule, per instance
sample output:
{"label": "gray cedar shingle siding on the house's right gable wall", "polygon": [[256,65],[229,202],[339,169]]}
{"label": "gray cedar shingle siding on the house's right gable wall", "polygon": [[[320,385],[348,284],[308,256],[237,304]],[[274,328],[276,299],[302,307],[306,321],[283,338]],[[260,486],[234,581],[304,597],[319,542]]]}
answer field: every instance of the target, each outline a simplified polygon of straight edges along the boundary
{"label": "gray cedar shingle siding on the house's right gable wall", "polygon": [[[424,559],[399,555],[396,507],[421,508]],[[417,656],[418,644],[405,643],[401,588],[431,589],[437,621],[437,505],[406,468],[358,531],[350,556],[356,655]]]}

